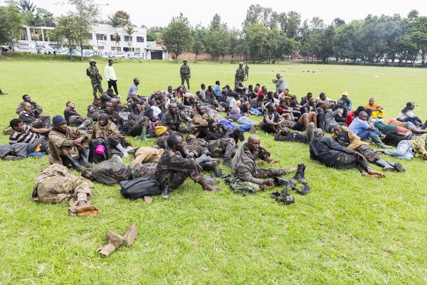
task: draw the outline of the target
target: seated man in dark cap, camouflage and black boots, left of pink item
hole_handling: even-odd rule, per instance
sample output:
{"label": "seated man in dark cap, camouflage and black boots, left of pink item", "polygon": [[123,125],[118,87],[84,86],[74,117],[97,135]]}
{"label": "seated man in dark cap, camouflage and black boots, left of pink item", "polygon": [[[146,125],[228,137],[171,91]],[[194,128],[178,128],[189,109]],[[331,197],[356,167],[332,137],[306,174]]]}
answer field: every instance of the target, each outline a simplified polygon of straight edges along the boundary
{"label": "seated man in dark cap, camouflage and black boots, left of pink item", "polygon": [[[53,129],[49,133],[49,162],[71,165],[77,171],[89,163],[89,138],[82,130],[70,129],[61,115],[52,119]],[[80,163],[75,160],[80,157]],[[81,164],[81,165],[80,165]]]}

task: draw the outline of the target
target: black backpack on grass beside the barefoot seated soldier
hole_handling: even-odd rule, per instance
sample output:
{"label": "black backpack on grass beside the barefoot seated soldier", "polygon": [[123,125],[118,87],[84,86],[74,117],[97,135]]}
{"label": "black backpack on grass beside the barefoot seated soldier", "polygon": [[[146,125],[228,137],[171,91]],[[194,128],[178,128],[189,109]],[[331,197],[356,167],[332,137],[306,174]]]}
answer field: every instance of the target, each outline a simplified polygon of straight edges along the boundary
{"label": "black backpack on grass beside the barefoot seated soldier", "polygon": [[151,177],[138,177],[134,180],[125,180],[119,183],[120,193],[127,199],[138,199],[144,196],[160,195],[160,183]]}

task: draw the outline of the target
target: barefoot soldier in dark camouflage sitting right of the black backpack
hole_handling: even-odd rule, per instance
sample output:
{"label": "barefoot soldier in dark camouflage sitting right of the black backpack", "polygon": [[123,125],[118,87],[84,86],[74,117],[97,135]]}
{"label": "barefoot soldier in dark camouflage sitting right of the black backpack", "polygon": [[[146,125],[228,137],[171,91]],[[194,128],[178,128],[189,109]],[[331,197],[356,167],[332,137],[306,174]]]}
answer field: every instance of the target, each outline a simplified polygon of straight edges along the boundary
{"label": "barefoot soldier in dark camouflage sitting right of the black backpack", "polygon": [[179,135],[169,135],[167,148],[157,163],[156,180],[160,183],[162,197],[169,197],[169,189],[179,187],[187,177],[208,191],[219,189],[209,185],[201,175],[201,166],[194,160],[194,153],[187,152],[184,141]]}

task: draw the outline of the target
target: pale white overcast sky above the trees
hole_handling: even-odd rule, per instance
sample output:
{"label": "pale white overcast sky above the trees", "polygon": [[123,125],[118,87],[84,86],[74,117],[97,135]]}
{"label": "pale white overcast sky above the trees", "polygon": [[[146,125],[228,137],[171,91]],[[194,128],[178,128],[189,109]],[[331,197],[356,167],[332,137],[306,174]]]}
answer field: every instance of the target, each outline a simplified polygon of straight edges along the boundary
{"label": "pale white overcast sky above the trees", "polygon": [[[1,0],[0,0],[1,1]],[[55,16],[65,14],[72,9],[67,4],[61,4],[64,0],[32,0],[36,6],[52,11]],[[113,14],[117,10],[125,10],[130,14],[133,24],[140,26],[167,26],[173,16],[180,12],[186,16],[191,25],[201,23],[207,26],[215,13],[218,13],[222,20],[229,27],[241,28],[241,23],[246,16],[246,10],[251,4],[260,4],[270,7],[274,11],[285,12],[297,11],[301,14],[302,20],[312,19],[318,16],[330,24],[336,17],[344,19],[346,22],[354,19],[364,19],[368,14],[373,15],[393,15],[401,14],[406,16],[408,11],[416,9],[421,16],[427,16],[427,0],[406,0],[406,1],[384,1],[384,0],[263,0],[263,1],[239,1],[239,0],[165,0],[165,1],[130,1],[130,0],[95,0],[102,4],[102,19],[107,19],[107,15]],[[66,2],[66,0],[65,0]],[[105,5],[107,4],[107,5]]]}

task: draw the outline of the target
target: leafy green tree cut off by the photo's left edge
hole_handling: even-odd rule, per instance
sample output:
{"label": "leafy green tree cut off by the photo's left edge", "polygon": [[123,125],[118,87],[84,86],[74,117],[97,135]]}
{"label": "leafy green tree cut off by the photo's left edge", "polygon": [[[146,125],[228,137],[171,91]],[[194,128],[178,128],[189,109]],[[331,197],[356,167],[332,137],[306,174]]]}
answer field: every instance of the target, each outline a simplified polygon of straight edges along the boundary
{"label": "leafy green tree cut off by the photo's left edge", "polygon": [[[0,47],[16,43],[22,31],[23,18],[14,5],[0,6]],[[0,48],[1,53],[1,48]]]}

